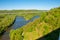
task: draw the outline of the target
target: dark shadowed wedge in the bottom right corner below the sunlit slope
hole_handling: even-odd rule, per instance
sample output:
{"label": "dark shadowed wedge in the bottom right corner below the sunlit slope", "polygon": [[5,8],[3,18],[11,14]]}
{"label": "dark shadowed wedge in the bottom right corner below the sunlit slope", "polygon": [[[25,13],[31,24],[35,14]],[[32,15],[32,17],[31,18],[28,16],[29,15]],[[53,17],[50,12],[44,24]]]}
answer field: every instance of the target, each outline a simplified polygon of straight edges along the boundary
{"label": "dark shadowed wedge in the bottom right corner below the sunlit slope", "polygon": [[41,38],[38,38],[37,40],[60,40],[59,32],[60,32],[60,28],[52,31],[51,33]]}

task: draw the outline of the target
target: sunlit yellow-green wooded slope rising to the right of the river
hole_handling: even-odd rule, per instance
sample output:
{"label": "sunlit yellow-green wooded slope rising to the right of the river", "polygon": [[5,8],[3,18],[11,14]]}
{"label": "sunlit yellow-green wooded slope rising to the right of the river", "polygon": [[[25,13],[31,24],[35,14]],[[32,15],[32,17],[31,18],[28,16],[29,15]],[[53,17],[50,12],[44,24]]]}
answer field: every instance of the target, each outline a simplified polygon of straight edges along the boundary
{"label": "sunlit yellow-green wooded slope rising to the right of the river", "polygon": [[[27,25],[10,31],[10,40],[36,40],[60,28],[60,7],[44,12]],[[55,40],[49,37],[46,40]]]}

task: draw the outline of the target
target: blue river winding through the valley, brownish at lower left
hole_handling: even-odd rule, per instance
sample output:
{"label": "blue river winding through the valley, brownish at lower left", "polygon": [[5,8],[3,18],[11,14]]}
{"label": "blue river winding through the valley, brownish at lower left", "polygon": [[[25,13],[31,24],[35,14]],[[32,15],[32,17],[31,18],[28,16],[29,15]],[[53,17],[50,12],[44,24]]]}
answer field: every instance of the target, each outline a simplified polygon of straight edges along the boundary
{"label": "blue river winding through the valley, brownish at lower left", "polygon": [[15,19],[14,24],[10,28],[8,28],[8,30],[6,32],[3,33],[0,40],[10,40],[9,33],[10,33],[11,29],[20,28],[23,25],[26,25],[27,23],[32,22],[36,18],[39,18],[39,16],[34,16],[30,20],[26,20],[23,16],[17,16],[16,19]]}

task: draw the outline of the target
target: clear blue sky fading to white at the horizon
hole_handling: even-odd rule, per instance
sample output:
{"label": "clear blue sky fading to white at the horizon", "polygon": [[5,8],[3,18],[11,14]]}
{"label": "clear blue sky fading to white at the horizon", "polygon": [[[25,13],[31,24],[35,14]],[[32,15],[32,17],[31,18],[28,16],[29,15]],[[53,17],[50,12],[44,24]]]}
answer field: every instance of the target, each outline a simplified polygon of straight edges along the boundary
{"label": "clear blue sky fading to white at the horizon", "polygon": [[49,10],[54,7],[60,7],[60,0],[0,0],[0,10]]}

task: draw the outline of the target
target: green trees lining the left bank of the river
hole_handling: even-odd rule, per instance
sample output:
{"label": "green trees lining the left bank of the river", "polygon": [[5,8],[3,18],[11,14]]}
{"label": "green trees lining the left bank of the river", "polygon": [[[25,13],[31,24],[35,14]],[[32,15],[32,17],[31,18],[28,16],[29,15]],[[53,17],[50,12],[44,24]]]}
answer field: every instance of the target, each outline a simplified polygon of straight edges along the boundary
{"label": "green trees lining the left bank of the river", "polygon": [[15,15],[9,15],[9,14],[0,14],[0,34],[5,31],[8,26],[10,26],[14,20]]}

